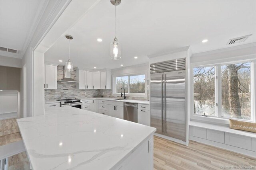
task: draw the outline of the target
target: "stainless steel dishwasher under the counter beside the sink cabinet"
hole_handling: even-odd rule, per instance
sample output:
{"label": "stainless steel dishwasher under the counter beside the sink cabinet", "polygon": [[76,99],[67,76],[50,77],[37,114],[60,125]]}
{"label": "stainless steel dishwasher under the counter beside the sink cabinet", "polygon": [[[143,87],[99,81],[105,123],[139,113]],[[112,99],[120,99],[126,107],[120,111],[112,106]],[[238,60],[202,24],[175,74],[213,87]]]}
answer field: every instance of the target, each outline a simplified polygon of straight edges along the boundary
{"label": "stainless steel dishwasher under the counter beside the sink cabinet", "polygon": [[137,105],[136,103],[124,102],[124,120],[137,123]]}

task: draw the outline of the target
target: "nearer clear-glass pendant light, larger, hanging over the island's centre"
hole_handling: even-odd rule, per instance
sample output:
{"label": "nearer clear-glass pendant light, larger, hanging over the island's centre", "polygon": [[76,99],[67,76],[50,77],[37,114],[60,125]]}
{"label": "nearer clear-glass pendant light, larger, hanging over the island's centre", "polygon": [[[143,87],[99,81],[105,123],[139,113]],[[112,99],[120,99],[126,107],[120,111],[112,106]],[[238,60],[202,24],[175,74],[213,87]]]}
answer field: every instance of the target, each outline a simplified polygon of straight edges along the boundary
{"label": "nearer clear-glass pendant light, larger, hanging over the island's centre", "polygon": [[[116,18],[116,6],[121,3],[121,0],[110,0],[111,4],[115,6],[115,18]],[[121,49],[120,43],[118,43],[116,38],[116,22],[115,22],[115,38],[112,43],[110,43],[110,56],[113,60],[120,60],[121,59]]]}

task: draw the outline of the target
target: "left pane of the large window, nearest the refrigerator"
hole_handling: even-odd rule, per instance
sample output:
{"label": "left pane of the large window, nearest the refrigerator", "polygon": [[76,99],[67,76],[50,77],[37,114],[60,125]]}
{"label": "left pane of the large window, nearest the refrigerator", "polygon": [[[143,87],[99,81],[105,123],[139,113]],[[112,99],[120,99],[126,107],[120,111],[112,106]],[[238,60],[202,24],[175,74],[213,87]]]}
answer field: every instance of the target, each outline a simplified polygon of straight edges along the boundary
{"label": "left pane of the large window, nearest the refrigerator", "polygon": [[215,67],[194,68],[194,113],[215,116]]}

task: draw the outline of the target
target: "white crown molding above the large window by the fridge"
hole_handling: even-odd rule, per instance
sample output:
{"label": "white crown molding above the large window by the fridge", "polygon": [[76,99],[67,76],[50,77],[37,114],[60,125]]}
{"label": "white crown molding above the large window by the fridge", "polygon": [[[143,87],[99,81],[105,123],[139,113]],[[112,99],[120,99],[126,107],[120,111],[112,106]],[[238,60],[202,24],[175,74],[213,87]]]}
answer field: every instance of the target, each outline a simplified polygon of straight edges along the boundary
{"label": "white crown molding above the large window by the fridge", "polygon": [[234,51],[234,50],[239,50],[239,49],[245,49],[245,48],[250,48],[250,47],[256,47],[256,42],[249,43],[249,44],[244,44],[244,45],[237,45],[237,46],[234,46],[234,47],[228,47],[228,48],[224,48],[224,49],[206,51],[206,52],[202,52],[202,53],[195,53],[195,54],[192,54],[191,57],[202,57],[202,56],[206,56],[206,55],[224,53],[224,52],[229,52],[229,51]]}

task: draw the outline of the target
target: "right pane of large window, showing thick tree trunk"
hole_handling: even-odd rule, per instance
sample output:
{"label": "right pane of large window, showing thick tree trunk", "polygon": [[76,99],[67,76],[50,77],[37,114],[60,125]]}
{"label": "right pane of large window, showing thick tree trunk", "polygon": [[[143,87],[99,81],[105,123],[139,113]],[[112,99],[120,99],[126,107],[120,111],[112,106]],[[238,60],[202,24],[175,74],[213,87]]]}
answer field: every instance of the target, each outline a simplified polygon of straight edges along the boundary
{"label": "right pane of large window, showing thick tree trunk", "polygon": [[250,63],[221,66],[223,117],[251,120]]}

